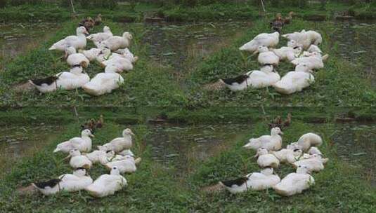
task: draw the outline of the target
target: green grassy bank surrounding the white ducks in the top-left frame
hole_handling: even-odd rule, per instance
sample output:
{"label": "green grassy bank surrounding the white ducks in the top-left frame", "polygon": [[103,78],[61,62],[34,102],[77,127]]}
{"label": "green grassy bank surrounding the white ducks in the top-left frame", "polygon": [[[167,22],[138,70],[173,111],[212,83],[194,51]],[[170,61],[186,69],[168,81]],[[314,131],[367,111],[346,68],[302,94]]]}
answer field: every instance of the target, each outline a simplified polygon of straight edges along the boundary
{"label": "green grassy bank surrounding the white ducks in the top-left frame", "polygon": [[[162,67],[160,64],[148,59],[148,44],[142,43],[143,34],[148,30],[142,24],[119,25],[106,21],[103,25],[108,25],[114,34],[122,34],[124,31],[131,32],[134,40],[131,43],[131,51],[140,57],[134,70],[128,74],[122,74],[124,84],[110,95],[101,97],[90,97],[83,90],[58,90],[51,94],[39,95],[39,92],[22,91],[16,89],[19,84],[25,83],[30,78],[44,78],[57,74],[60,71],[67,71],[69,67],[63,60],[63,53],[50,51],[48,47],[52,43],[73,34],[77,27],[76,22],[65,22],[62,28],[51,39],[42,43],[37,49],[26,55],[17,57],[12,62],[4,66],[1,71],[0,99],[3,105],[26,105],[26,106],[72,106],[72,105],[96,105],[96,106],[177,106],[186,102],[183,93],[172,81],[171,69]],[[103,29],[96,27],[94,32]],[[93,47],[93,43],[88,41],[86,48]],[[86,72],[91,78],[103,68],[92,62]]]}

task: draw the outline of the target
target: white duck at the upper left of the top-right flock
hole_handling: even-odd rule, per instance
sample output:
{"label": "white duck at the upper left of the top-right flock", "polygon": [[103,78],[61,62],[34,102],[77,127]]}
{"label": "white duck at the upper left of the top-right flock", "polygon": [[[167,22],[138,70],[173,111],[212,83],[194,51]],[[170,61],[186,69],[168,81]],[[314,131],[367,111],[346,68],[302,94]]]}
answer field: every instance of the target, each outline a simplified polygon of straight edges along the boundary
{"label": "white duck at the upper left of the top-right flock", "polygon": [[274,47],[278,45],[280,34],[273,32],[271,34],[262,33],[254,37],[252,41],[245,43],[239,50],[246,50],[251,53],[257,50],[259,46]]}

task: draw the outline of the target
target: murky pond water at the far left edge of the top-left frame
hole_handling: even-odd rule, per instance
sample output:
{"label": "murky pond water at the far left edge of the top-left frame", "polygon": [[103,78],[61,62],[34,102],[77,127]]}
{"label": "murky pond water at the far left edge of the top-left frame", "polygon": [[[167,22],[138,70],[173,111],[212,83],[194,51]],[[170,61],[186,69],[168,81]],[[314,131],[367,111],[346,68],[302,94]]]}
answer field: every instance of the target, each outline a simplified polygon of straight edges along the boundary
{"label": "murky pond water at the far left edge of the top-left frame", "polygon": [[[56,23],[0,23],[0,62],[25,53],[55,34]],[[0,64],[1,68],[1,64]]]}

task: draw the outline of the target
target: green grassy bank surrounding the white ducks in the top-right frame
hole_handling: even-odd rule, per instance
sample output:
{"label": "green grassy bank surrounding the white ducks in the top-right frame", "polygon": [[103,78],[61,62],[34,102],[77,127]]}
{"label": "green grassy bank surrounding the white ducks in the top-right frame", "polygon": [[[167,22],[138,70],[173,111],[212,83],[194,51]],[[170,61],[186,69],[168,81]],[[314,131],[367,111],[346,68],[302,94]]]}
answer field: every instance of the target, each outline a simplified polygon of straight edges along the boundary
{"label": "green grassy bank surrounding the white ducks in the top-right frame", "polygon": [[[376,91],[370,81],[362,78],[361,64],[352,64],[343,60],[337,51],[336,41],[330,40],[330,34],[335,33],[335,26],[330,22],[308,22],[296,19],[283,29],[283,33],[314,29],[323,34],[323,44],[320,46],[324,53],[330,55],[325,62],[325,68],[316,72],[315,83],[303,92],[293,95],[280,95],[273,88],[254,90],[252,88],[241,92],[230,90],[207,91],[202,86],[214,83],[219,78],[235,77],[247,71],[259,69],[257,57],[241,53],[238,48],[261,32],[268,32],[266,20],[254,22],[251,29],[238,41],[217,53],[210,55],[197,65],[187,78],[190,85],[190,102],[196,105],[214,106],[363,106],[376,104]],[[279,46],[285,46],[286,39],[280,39]],[[288,62],[282,62],[277,67],[280,76],[294,70]]]}

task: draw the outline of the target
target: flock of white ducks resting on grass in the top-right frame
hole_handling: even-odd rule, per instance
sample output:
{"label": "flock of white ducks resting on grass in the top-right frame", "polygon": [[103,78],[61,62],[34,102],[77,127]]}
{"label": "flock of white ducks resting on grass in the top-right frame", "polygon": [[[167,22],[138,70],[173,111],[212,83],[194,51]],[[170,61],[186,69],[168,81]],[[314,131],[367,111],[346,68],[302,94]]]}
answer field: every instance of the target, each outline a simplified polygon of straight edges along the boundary
{"label": "flock of white ducks resting on grass in the top-right frame", "polygon": [[[252,41],[241,46],[253,55],[259,53],[257,60],[261,64],[260,70],[248,71],[235,78],[220,79],[220,83],[233,91],[247,88],[273,87],[278,92],[289,95],[300,92],[314,82],[313,70],[322,69],[328,55],[322,55],[318,45],[322,42],[322,36],[313,30],[302,30],[292,34],[283,35],[288,39],[287,46],[275,49],[280,40],[280,33],[262,33],[254,37]],[[275,70],[280,61],[294,64],[294,71],[289,71],[285,76]]]}

